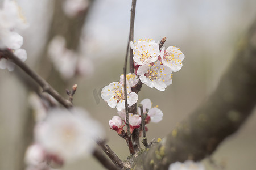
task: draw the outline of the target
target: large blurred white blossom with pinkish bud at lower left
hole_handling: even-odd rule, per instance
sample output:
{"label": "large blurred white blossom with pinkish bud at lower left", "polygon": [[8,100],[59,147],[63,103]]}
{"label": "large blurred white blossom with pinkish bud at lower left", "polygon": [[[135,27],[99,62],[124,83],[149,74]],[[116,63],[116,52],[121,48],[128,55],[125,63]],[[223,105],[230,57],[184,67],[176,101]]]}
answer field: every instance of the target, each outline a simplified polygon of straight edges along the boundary
{"label": "large blurred white blossom with pinkish bud at lower left", "polygon": [[104,137],[98,122],[81,108],[50,109],[46,118],[36,124],[34,133],[35,141],[25,156],[27,169],[61,167],[91,154],[99,137]]}

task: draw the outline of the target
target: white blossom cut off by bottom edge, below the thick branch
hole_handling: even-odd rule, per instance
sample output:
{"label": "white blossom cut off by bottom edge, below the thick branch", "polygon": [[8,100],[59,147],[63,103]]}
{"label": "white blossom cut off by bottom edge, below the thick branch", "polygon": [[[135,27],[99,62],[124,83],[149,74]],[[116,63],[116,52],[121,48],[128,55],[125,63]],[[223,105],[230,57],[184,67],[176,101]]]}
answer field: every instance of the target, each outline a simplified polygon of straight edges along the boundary
{"label": "white blossom cut off by bottom edge, below the thick branch", "polygon": [[184,163],[175,162],[170,164],[169,170],[204,170],[204,165],[201,162],[193,162],[186,160]]}

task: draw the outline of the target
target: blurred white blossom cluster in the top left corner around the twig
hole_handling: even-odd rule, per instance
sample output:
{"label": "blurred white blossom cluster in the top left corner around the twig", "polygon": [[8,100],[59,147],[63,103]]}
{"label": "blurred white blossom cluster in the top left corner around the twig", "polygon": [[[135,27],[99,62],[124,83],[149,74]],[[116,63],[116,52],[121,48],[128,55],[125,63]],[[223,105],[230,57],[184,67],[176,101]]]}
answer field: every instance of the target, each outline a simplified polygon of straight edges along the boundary
{"label": "blurred white blossom cluster in the top left corner around the twig", "polygon": [[[19,35],[19,29],[26,28],[20,8],[15,1],[3,1],[0,8],[0,49],[9,49],[20,60],[27,59],[27,52],[20,47],[23,45],[23,37]],[[14,70],[14,63],[8,61],[5,56],[0,56],[0,69]]]}

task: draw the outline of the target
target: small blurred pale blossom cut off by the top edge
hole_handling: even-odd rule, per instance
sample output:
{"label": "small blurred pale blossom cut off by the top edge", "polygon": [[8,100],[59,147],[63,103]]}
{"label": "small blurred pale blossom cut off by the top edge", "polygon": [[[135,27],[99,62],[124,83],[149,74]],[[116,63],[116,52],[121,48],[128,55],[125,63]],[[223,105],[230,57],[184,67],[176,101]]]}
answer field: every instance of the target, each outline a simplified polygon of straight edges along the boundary
{"label": "small blurred pale blossom cut off by the top edge", "polygon": [[79,12],[84,11],[89,3],[88,0],[65,0],[63,2],[63,11],[72,18],[79,14]]}

